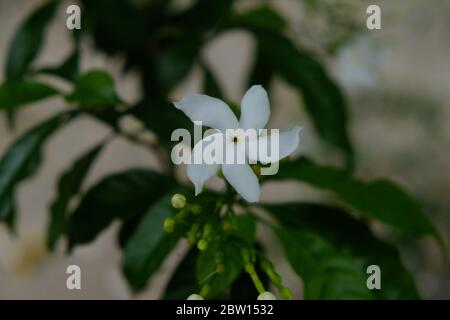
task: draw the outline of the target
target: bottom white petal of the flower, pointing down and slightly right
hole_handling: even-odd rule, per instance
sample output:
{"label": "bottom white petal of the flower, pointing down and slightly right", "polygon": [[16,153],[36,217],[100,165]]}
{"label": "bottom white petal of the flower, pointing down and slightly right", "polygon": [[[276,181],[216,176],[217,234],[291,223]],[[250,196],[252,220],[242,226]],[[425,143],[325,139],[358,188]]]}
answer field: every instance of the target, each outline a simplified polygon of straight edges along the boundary
{"label": "bottom white petal of the flower, pointing down and slightly right", "polygon": [[259,182],[248,164],[222,165],[224,177],[233,188],[248,202],[259,200]]}

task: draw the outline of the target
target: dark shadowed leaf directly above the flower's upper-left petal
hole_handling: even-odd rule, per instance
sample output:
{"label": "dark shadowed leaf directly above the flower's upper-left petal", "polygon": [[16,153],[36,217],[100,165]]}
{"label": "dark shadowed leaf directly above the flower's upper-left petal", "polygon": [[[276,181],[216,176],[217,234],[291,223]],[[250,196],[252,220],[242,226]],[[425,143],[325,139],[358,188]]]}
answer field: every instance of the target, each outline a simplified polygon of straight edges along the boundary
{"label": "dark shadowed leaf directly above the flower's upper-left petal", "polygon": [[186,39],[177,41],[163,50],[157,65],[157,73],[166,90],[173,88],[188,74],[197,57],[199,46],[199,41]]}

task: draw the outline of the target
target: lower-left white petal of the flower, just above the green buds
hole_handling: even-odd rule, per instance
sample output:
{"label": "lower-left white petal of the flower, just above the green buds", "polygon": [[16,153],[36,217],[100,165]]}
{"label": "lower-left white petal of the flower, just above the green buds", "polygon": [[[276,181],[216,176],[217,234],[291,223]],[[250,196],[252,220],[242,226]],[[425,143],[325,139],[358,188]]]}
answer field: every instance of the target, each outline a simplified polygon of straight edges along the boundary
{"label": "lower-left white petal of the flower, just above the green buds", "polygon": [[[219,164],[195,163],[194,158],[197,152],[202,155],[202,149],[214,142],[214,136],[221,135],[219,133],[212,134],[205,137],[203,140],[197,142],[191,153],[191,163],[187,165],[187,175],[195,186],[195,195],[202,191],[203,184],[213,177],[219,169]],[[202,160],[202,159],[200,159]]]}

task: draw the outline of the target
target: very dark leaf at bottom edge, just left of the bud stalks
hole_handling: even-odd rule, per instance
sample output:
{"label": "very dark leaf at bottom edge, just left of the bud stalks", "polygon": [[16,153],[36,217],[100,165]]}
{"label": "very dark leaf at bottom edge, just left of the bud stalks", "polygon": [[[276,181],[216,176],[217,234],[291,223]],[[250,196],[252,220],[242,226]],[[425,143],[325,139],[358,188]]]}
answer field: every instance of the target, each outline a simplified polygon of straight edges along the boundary
{"label": "very dark leaf at bottom edge, just left of the bud stalks", "polygon": [[200,292],[195,277],[198,251],[191,249],[180,262],[163,294],[164,300],[183,300],[193,293]]}

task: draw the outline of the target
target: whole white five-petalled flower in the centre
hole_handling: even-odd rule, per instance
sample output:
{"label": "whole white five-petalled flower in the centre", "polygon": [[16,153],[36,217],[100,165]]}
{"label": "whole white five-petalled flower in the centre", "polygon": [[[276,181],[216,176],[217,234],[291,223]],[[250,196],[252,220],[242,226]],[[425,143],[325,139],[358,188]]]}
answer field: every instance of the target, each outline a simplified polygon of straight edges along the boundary
{"label": "whole white five-petalled flower in the centre", "polygon": [[[189,95],[179,102],[174,102],[174,105],[177,109],[183,111],[191,121],[201,121],[204,126],[218,131],[197,142],[193,153],[195,153],[196,148],[203,148],[214,141],[217,135],[221,135],[225,143],[226,153],[234,149],[238,155],[244,156],[246,159],[251,158],[251,160],[258,160],[261,163],[272,163],[290,155],[299,143],[299,127],[280,132],[278,155],[271,155],[270,161],[267,161],[267,159],[264,161],[264,159],[255,159],[255,156],[249,154],[245,147],[245,136],[240,134],[227,135],[227,129],[255,129],[256,132],[259,132],[259,129],[266,126],[270,117],[269,98],[266,90],[260,85],[252,86],[242,98],[239,121],[225,102],[207,95]],[[260,143],[270,144],[270,135],[260,136],[257,139]],[[188,164],[187,174],[195,185],[196,195],[201,192],[203,184],[216,174],[219,166],[220,164],[216,163]],[[221,166],[225,179],[245,200],[248,202],[259,200],[259,181],[248,163],[223,163]]]}

